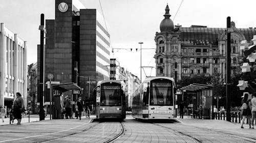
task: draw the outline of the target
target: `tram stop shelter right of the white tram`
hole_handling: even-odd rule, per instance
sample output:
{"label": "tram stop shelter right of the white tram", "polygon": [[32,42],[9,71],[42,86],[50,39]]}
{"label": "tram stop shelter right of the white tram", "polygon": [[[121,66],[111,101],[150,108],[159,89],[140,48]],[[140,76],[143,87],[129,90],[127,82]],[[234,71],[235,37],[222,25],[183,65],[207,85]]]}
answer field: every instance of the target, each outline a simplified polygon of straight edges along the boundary
{"label": "tram stop shelter right of the white tram", "polygon": [[197,105],[202,105],[203,118],[211,119],[214,118],[214,113],[212,112],[214,110],[214,106],[212,106],[214,101],[212,88],[214,88],[212,85],[193,83],[182,87],[179,90],[182,91],[182,95],[186,92],[186,95],[189,98],[188,104],[192,108],[192,113],[197,110]]}

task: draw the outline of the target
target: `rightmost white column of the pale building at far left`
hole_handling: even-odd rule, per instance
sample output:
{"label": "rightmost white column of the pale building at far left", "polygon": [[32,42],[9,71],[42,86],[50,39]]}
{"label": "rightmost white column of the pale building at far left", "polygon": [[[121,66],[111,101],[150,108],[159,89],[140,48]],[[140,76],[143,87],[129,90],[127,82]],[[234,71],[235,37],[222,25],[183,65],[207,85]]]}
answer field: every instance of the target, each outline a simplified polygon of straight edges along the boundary
{"label": "rightmost white column of the pale building at far left", "polygon": [[28,78],[27,78],[27,41],[24,42],[23,49],[23,95],[24,95],[24,106],[27,107],[27,94],[28,94]]}

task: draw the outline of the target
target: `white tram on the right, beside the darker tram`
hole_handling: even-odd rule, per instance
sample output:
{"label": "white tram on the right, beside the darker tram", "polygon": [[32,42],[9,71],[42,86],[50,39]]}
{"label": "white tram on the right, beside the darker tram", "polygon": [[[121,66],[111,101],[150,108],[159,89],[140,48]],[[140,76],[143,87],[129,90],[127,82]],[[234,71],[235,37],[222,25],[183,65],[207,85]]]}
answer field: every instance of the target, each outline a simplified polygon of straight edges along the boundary
{"label": "white tram on the right, beside the darker tram", "polygon": [[170,77],[146,77],[133,93],[135,119],[174,119],[175,81]]}

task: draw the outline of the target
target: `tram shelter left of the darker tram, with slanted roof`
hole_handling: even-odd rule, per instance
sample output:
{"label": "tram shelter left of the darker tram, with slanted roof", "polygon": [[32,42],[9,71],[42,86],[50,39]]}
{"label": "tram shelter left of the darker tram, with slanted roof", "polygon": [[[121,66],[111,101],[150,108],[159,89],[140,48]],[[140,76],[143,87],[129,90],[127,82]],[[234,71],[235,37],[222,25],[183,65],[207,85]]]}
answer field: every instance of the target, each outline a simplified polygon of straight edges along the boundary
{"label": "tram shelter left of the darker tram, with slanted roof", "polygon": [[65,100],[65,94],[68,92],[68,97],[71,97],[72,99],[72,108],[74,108],[75,101],[81,93],[81,88],[76,83],[62,83],[62,84],[53,84],[52,85],[52,95],[51,95],[51,101],[52,101],[52,110],[53,113],[52,118],[53,119],[61,119],[61,108],[65,106],[64,100]]}

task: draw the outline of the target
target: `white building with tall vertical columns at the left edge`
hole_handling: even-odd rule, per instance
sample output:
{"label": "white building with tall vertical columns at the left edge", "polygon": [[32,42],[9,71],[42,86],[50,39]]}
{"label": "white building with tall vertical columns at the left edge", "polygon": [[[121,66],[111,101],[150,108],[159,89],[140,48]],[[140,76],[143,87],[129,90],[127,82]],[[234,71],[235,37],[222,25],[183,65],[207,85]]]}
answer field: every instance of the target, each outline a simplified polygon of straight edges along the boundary
{"label": "white building with tall vertical columns at the left edge", "polygon": [[27,98],[27,42],[1,23],[0,107],[11,107],[16,93]]}

